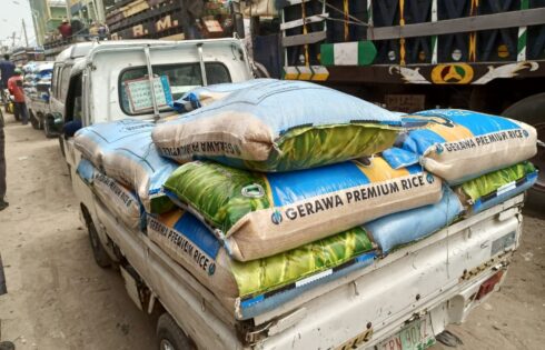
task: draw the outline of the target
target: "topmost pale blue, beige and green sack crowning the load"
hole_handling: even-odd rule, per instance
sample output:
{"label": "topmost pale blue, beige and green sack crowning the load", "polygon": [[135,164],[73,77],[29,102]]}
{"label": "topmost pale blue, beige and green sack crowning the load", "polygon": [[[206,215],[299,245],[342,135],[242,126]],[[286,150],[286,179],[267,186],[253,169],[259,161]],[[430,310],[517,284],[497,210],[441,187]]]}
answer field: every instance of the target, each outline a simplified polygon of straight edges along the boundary
{"label": "topmost pale blue, beige and green sack crowning the load", "polygon": [[178,162],[207,158],[256,171],[290,171],[375,154],[400,117],[303,81],[264,79],[157,126],[159,151]]}

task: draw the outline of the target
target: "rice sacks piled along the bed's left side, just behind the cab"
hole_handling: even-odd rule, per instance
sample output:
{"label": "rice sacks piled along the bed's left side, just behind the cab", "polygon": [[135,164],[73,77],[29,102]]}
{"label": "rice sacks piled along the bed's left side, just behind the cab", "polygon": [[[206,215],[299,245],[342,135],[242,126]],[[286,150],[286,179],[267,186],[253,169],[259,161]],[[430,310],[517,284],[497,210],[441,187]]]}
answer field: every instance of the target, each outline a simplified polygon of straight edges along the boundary
{"label": "rice sacks piled along the bed's left side, just behind the cab", "polygon": [[82,154],[79,176],[131,229],[146,226],[145,212],[172,208],[162,184],[178,164],[159,154],[151,140],[153,128],[151,122],[125,119],[97,123],[75,136]]}

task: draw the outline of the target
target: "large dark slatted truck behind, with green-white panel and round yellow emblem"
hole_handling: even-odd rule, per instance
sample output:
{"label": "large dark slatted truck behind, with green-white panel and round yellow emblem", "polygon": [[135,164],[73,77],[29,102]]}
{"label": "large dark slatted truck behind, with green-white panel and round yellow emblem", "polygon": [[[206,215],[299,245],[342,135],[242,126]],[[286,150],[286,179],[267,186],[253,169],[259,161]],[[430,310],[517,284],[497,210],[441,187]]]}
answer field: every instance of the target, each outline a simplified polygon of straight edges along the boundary
{"label": "large dark slatted truck behind, with green-white panel and round yellow emblem", "polygon": [[[318,81],[402,112],[439,107],[504,114],[533,124],[545,140],[544,0],[277,4],[277,32],[254,42],[276,40],[280,52],[276,60],[254,56],[269,71],[280,66],[284,79]],[[541,169],[543,146],[534,159]],[[535,189],[544,203],[545,171]]]}

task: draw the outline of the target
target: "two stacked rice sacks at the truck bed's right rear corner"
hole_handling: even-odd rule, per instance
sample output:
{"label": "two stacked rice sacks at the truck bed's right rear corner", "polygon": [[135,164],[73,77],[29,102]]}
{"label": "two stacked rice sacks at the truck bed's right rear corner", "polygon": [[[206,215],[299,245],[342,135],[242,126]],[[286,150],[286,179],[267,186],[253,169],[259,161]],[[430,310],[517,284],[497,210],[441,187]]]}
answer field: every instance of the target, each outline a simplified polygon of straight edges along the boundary
{"label": "two stacked rice sacks at the truck bed's right rear corner", "polygon": [[531,188],[537,170],[536,130],[521,121],[466,110],[428,110],[403,118],[422,124],[384,152],[394,168],[420,163],[458,194],[467,214]]}

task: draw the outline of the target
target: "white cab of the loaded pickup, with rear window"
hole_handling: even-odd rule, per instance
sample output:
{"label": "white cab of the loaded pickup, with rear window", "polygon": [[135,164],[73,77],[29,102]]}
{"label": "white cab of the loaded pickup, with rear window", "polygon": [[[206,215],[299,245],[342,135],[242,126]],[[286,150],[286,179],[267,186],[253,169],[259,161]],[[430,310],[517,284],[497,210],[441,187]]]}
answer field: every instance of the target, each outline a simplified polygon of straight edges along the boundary
{"label": "white cab of the loaded pickup, with rear window", "polygon": [[[246,51],[237,39],[78,44],[65,50],[56,62],[50,122],[59,126],[60,119],[61,126],[76,122],[87,127],[125,118],[158,120],[175,114],[171,108],[157,104],[136,111],[126,91],[127,81],[165,76],[174,100],[198,86],[252,79]],[[93,203],[91,191],[76,174],[81,154],[73,147],[73,138],[63,134],[59,140],[75,192],[82,203]],[[95,206],[82,204],[82,212],[96,220]],[[107,242],[106,237],[101,238]],[[113,251],[109,253],[115,257]]]}

